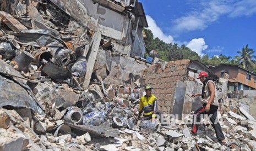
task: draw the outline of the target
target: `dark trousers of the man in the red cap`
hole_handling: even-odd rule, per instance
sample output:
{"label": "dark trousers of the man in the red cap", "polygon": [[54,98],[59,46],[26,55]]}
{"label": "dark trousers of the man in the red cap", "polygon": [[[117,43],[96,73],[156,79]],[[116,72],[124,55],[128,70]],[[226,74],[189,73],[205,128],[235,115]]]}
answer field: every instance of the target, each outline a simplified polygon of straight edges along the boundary
{"label": "dark trousers of the man in the red cap", "polygon": [[208,116],[210,116],[211,126],[213,126],[213,128],[215,130],[217,139],[218,140],[224,140],[225,136],[224,136],[224,134],[221,130],[219,120],[217,119],[217,109],[218,109],[219,106],[211,105],[210,110],[208,112],[206,111],[205,106],[206,106],[206,104],[203,104],[203,106],[198,108],[194,113],[194,119],[196,117],[197,123],[195,123],[195,121],[193,122],[193,124],[192,124],[192,133],[197,133],[199,123],[200,123],[200,120],[201,120],[201,115],[208,114]]}

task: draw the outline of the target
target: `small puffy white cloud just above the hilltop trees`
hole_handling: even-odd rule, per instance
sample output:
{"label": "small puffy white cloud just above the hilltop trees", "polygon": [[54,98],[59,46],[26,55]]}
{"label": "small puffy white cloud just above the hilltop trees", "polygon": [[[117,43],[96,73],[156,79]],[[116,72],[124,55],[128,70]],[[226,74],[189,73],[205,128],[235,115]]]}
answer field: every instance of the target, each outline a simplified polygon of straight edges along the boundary
{"label": "small puffy white cloud just above the hilltop trees", "polygon": [[195,38],[188,42],[186,47],[188,47],[192,51],[195,51],[195,53],[201,56],[203,55],[202,51],[207,49],[208,45],[205,44],[204,38]]}

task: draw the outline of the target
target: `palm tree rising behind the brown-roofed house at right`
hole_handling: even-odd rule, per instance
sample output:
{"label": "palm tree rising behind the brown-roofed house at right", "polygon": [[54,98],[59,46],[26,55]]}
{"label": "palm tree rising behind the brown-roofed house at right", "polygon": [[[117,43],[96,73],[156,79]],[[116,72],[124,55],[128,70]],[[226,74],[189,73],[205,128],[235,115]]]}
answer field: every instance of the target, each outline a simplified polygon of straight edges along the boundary
{"label": "palm tree rising behind the brown-roofed house at right", "polygon": [[255,65],[255,60],[256,56],[253,55],[255,53],[255,51],[251,48],[248,48],[248,44],[246,45],[246,47],[242,48],[242,51],[237,51],[237,53],[239,54],[238,56],[235,56],[235,60],[237,60],[240,65],[244,68],[253,68]]}

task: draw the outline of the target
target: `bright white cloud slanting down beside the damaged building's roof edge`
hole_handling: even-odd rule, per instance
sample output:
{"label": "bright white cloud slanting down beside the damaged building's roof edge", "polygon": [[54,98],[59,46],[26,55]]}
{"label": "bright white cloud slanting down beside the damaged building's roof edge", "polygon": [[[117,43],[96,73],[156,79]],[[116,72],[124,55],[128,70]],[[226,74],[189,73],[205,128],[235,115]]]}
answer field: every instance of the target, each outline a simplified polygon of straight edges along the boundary
{"label": "bright white cloud slanting down beside the damaged building's roof edge", "polygon": [[172,43],[173,37],[171,35],[166,35],[162,32],[161,28],[156,25],[154,19],[151,16],[146,15],[146,21],[148,21],[149,29],[153,33],[154,38],[158,37],[160,40],[163,40],[165,43]]}

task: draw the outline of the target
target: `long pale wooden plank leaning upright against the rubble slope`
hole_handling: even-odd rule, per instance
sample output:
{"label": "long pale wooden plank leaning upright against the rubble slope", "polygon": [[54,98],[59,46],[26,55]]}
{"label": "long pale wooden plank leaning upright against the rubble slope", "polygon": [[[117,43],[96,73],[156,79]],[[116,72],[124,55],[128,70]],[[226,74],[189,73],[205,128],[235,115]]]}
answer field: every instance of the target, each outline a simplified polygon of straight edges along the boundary
{"label": "long pale wooden plank leaning upright against the rubble slope", "polygon": [[89,84],[90,84],[91,74],[93,72],[94,63],[95,63],[96,56],[97,56],[97,53],[98,53],[98,50],[100,47],[101,32],[96,31],[94,33],[94,36],[92,37],[92,40],[93,40],[93,42],[91,44],[91,47],[90,47],[91,49],[88,54],[89,57],[86,57],[86,58],[88,58],[88,61],[87,61],[87,69],[86,69],[86,74],[85,74],[85,79],[84,79],[84,84],[83,84],[84,88],[88,88]]}

